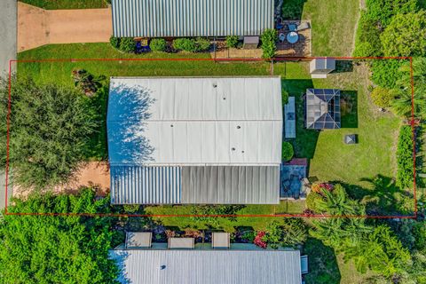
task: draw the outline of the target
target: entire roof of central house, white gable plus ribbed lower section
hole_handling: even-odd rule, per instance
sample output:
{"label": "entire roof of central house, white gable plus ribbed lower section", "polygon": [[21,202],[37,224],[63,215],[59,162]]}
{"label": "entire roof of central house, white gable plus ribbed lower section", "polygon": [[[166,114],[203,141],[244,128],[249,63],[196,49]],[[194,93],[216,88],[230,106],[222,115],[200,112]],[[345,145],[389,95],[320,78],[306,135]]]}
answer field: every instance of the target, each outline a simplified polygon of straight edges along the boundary
{"label": "entire roof of central house, white gable plus ribbed lower section", "polygon": [[113,204],[277,204],[280,77],[111,78]]}

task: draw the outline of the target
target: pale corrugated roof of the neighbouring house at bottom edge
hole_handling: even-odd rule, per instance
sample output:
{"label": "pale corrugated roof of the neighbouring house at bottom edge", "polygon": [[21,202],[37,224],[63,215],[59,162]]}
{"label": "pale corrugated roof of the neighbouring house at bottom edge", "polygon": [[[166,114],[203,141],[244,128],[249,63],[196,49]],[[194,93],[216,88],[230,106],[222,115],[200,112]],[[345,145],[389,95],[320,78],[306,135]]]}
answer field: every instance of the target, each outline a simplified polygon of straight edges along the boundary
{"label": "pale corrugated roof of the neighbouring house at bottom edge", "polygon": [[121,283],[302,283],[298,250],[112,250]]}

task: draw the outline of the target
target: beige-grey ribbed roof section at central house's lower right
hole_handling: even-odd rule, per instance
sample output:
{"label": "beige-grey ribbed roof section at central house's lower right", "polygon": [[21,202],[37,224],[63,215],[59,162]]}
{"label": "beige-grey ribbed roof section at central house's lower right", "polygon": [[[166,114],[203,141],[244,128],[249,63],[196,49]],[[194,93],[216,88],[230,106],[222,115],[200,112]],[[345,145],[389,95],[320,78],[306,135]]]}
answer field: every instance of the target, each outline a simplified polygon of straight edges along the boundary
{"label": "beige-grey ribbed roof section at central house's lower right", "polygon": [[277,204],[280,166],[183,167],[182,203]]}

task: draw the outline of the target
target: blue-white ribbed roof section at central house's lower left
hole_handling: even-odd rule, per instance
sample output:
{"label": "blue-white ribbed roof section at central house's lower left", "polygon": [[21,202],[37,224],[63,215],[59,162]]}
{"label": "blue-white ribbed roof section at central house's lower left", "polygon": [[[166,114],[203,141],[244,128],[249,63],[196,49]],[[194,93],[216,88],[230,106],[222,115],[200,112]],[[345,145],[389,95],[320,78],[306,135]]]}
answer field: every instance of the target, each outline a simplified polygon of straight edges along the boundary
{"label": "blue-white ribbed roof section at central house's lower left", "polygon": [[111,166],[110,171],[113,204],[180,203],[179,167]]}

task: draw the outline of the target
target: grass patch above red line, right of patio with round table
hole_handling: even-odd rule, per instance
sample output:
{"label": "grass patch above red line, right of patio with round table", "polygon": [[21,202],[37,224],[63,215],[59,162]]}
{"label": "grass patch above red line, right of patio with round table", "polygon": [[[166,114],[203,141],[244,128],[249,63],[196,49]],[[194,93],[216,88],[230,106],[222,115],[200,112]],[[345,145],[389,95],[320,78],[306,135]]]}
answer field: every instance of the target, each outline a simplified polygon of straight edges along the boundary
{"label": "grass patch above red line, right of patio with round table", "polygon": [[302,19],[312,23],[313,56],[351,56],[359,0],[308,0],[304,3]]}

